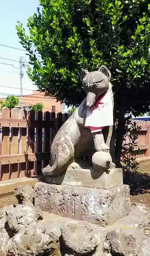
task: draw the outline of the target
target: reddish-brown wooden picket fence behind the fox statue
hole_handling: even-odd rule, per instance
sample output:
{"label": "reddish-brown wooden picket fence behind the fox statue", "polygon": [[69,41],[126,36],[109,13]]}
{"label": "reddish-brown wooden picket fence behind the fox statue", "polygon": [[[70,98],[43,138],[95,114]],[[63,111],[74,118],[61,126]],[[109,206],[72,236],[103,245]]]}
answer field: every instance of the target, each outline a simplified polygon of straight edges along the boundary
{"label": "reddish-brown wooden picket fence behind the fox statue", "polygon": [[[2,109],[0,118],[0,180],[41,174],[50,159],[50,148],[68,114]],[[150,122],[139,122],[137,158],[150,156]]]}

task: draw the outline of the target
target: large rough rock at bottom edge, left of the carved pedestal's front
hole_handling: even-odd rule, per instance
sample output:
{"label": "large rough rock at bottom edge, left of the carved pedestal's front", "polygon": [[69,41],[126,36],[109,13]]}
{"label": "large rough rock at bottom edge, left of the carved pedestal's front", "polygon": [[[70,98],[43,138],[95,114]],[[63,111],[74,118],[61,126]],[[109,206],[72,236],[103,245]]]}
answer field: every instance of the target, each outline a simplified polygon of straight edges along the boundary
{"label": "large rough rock at bottom edge, left of the carved pedestal's front", "polygon": [[42,222],[21,229],[7,245],[7,256],[61,256],[57,229]]}

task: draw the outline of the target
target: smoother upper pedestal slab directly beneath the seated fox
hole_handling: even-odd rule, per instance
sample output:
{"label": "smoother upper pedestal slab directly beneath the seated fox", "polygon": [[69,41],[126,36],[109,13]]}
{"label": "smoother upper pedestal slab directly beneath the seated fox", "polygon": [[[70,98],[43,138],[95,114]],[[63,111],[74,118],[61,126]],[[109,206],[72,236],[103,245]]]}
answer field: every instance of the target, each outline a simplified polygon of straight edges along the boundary
{"label": "smoother upper pedestal slab directly beneath the seated fox", "polygon": [[56,177],[47,176],[46,182],[55,185],[72,185],[109,189],[123,184],[123,174],[121,168],[112,168],[102,173],[97,172],[94,168],[68,168],[65,174],[61,174]]}

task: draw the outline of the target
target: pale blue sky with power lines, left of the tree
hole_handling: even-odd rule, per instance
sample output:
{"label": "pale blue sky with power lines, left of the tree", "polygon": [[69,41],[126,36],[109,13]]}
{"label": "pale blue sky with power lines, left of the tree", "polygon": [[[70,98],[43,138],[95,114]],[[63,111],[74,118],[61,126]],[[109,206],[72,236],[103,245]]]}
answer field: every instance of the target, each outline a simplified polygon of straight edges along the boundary
{"label": "pale blue sky with power lines, left of the tree", "polygon": [[[23,49],[23,47],[19,44],[19,38],[16,34],[15,25],[17,24],[17,20],[20,20],[20,22],[25,25],[27,23],[27,18],[33,15],[38,4],[39,3],[37,0],[7,0],[6,2],[1,1],[0,44]],[[20,56],[25,56],[25,59],[28,60],[28,56],[25,55],[24,51],[0,46],[1,58],[19,60]],[[1,58],[0,62],[12,64],[15,68],[19,67],[19,62],[8,61]],[[10,91],[12,90],[8,87],[12,87],[13,94],[19,94],[19,91],[15,89],[19,88],[18,72],[19,69],[14,69],[12,66],[3,65],[0,63],[0,97],[6,93],[11,93]],[[27,76],[23,78],[23,88],[27,89],[23,91],[24,95],[30,94],[29,89],[35,89],[35,86]],[[1,93],[3,94],[1,95]]]}

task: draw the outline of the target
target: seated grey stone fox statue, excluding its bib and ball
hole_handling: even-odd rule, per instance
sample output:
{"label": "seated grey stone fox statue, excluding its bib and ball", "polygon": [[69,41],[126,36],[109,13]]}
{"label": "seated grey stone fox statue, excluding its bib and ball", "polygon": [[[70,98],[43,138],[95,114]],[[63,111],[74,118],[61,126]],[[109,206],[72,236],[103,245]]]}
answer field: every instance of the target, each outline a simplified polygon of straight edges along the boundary
{"label": "seated grey stone fox statue, excluding its bib and ball", "polygon": [[[92,133],[90,127],[85,127],[85,121],[87,109],[91,109],[98,97],[108,91],[114,105],[110,78],[111,73],[105,66],[101,66],[98,71],[81,72],[83,89],[87,97],[57,132],[51,146],[51,165],[42,169],[45,176],[58,176],[65,172],[67,167],[75,164],[85,151],[93,147],[93,144],[96,151],[109,151],[112,126],[106,126],[106,123],[102,130]],[[106,120],[107,118],[105,116]]]}

